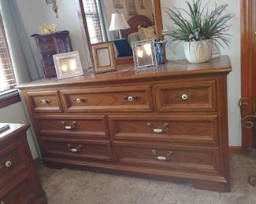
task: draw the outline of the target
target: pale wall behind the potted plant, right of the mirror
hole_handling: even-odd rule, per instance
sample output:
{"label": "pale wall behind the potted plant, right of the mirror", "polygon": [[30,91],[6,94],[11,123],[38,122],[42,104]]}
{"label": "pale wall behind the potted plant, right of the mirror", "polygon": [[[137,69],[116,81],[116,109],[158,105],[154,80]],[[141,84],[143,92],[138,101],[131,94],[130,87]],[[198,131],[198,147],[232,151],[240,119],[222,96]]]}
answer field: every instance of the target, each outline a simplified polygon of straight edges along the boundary
{"label": "pale wall behind the potted plant, right of the mirror", "polygon": [[[173,7],[186,8],[185,0],[161,0],[163,25],[172,25],[168,16],[165,14],[165,8],[172,9]],[[209,2],[209,1],[203,1]],[[234,14],[231,20],[231,30],[228,31],[232,37],[230,49],[221,49],[221,54],[228,55],[232,63],[232,72],[228,75],[228,132],[229,145],[241,145],[241,126],[240,126],[240,111],[238,106],[239,98],[241,97],[240,88],[240,5],[239,0],[215,0],[211,1],[209,8],[214,8],[214,2],[217,5],[228,4],[226,13]],[[167,57],[169,60],[184,59],[183,44],[171,44],[168,46]]]}

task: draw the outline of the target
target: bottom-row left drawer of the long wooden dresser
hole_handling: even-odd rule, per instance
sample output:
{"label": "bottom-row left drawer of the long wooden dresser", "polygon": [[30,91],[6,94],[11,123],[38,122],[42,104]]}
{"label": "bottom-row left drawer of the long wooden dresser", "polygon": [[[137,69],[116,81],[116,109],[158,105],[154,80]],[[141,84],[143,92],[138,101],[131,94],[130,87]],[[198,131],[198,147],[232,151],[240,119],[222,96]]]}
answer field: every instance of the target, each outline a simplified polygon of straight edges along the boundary
{"label": "bottom-row left drawer of the long wooden dresser", "polygon": [[109,141],[72,140],[60,138],[40,138],[47,158],[64,158],[84,162],[112,162],[113,155]]}

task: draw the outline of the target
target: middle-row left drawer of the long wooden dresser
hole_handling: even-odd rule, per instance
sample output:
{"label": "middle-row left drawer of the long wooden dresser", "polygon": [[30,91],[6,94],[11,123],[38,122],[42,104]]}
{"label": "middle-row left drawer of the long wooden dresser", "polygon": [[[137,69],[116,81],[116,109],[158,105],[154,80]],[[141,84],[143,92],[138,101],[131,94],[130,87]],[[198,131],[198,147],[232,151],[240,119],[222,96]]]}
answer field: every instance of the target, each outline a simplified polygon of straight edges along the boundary
{"label": "middle-row left drawer of the long wooden dresser", "polygon": [[106,116],[35,116],[39,134],[60,137],[109,137]]}

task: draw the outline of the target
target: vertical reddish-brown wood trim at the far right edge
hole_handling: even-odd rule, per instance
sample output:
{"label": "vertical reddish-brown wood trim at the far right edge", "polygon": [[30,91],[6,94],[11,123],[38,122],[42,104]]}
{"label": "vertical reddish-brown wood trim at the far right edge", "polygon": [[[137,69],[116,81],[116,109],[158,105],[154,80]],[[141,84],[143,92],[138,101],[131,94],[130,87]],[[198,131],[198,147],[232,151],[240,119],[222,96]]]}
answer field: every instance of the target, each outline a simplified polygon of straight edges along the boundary
{"label": "vertical reddish-brown wood trim at the far right edge", "polygon": [[[241,91],[242,97],[252,97],[252,1],[240,0],[241,5]],[[242,115],[247,115],[252,107],[243,110]],[[243,150],[252,148],[252,130],[242,129]]]}

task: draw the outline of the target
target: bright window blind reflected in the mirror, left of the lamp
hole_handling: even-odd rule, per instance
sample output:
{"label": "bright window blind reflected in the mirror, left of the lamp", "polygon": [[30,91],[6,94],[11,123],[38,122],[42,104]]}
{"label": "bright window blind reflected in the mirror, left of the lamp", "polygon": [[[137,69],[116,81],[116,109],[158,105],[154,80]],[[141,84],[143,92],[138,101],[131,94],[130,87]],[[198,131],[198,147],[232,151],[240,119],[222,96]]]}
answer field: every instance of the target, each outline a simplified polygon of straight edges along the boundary
{"label": "bright window blind reflected in the mirror, left of the lamp", "polygon": [[83,9],[91,44],[103,42],[98,0],[83,0]]}

